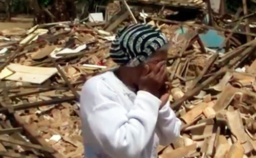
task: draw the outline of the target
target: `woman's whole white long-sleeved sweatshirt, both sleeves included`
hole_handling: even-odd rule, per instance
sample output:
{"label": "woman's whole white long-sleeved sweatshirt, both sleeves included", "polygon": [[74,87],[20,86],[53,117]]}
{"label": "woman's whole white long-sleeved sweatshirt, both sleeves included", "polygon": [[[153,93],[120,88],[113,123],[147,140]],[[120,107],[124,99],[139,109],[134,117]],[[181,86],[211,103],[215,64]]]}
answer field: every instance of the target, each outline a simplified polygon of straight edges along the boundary
{"label": "woman's whole white long-sleeved sweatshirt, both sleeves included", "polygon": [[157,147],[180,134],[181,121],[167,103],[146,91],[137,95],[113,72],[90,78],[80,99],[86,158],[156,158]]}

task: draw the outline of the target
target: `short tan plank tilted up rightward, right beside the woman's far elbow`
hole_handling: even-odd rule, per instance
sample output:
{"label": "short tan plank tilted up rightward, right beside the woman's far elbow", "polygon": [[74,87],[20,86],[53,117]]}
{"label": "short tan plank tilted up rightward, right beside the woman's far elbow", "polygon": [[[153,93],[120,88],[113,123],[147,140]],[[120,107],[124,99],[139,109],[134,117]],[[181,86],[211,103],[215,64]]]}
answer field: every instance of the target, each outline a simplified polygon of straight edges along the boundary
{"label": "short tan plank tilted up rightward, right beside the woman's far elbow", "polygon": [[207,108],[207,103],[202,102],[199,103],[198,106],[191,109],[189,112],[187,112],[184,116],[181,117],[182,120],[184,120],[186,123],[193,122],[193,120],[198,117],[200,114],[203,113],[203,110]]}

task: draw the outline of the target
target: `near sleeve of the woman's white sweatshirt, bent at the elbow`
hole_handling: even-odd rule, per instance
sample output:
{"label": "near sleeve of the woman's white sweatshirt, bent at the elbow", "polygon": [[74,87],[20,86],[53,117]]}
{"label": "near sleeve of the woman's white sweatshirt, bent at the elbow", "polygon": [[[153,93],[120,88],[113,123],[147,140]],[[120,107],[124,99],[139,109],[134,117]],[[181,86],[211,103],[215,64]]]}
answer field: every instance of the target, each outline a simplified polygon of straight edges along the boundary
{"label": "near sleeve of the woman's white sweatshirt, bent at the elbow", "polygon": [[111,157],[139,158],[153,136],[161,101],[139,91],[127,111],[117,94],[103,82],[88,82],[81,94],[81,115],[94,137]]}

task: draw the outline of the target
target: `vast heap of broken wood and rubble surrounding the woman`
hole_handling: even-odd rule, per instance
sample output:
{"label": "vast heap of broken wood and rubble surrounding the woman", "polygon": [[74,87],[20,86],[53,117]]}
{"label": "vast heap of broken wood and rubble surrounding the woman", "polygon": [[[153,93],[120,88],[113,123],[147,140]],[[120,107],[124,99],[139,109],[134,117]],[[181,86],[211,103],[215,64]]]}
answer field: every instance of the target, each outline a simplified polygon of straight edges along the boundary
{"label": "vast heap of broken wood and rubble surrounding the woman", "polygon": [[[141,4],[161,7],[138,9]],[[168,7],[211,12],[201,0],[114,2],[106,10],[108,21],[0,31],[0,156],[82,157],[82,85],[116,66],[108,52],[120,28],[147,22],[172,43],[166,84],[183,121],[180,138],[159,146],[159,157],[255,157],[256,34],[255,21],[247,20],[254,13],[212,14],[210,26],[200,18],[176,21]],[[208,44],[209,38],[223,40]]]}

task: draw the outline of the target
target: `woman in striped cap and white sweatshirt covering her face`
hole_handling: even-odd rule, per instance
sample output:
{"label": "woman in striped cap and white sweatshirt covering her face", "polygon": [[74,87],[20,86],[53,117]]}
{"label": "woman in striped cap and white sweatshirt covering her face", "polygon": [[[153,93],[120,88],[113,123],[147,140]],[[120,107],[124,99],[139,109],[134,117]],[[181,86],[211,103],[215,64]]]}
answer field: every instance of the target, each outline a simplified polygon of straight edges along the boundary
{"label": "woman in striped cap and white sweatshirt covering her face", "polygon": [[81,94],[87,158],[153,158],[180,134],[168,101],[167,38],[147,24],[124,28],[110,57],[119,68],[90,78]]}

